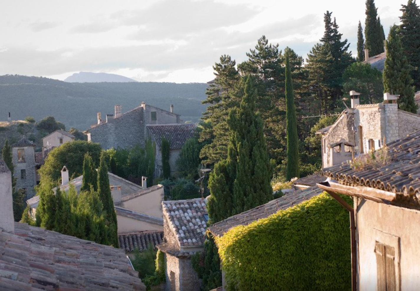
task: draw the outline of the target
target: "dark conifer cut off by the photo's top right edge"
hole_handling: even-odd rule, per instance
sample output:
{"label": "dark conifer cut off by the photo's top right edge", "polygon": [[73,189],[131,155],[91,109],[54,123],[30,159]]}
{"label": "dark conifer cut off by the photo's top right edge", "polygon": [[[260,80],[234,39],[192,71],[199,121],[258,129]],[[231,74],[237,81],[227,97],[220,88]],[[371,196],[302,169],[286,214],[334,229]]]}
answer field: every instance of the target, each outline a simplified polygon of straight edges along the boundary
{"label": "dark conifer cut off by the photo's top right edge", "polygon": [[404,53],[412,66],[411,77],[417,90],[420,89],[420,9],[415,0],[401,5],[402,16],[399,33]]}

